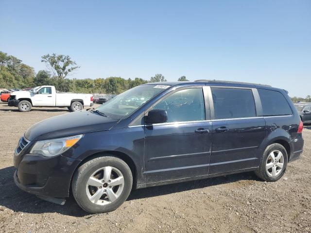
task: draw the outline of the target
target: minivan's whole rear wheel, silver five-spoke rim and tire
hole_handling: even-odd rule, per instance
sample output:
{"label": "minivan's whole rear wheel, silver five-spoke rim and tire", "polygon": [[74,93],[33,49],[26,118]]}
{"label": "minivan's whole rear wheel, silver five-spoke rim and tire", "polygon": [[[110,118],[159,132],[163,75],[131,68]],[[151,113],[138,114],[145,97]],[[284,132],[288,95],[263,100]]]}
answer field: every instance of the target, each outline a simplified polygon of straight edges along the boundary
{"label": "minivan's whole rear wheel, silver five-spoke rim and tire", "polygon": [[[279,160],[277,160],[279,152],[281,153],[281,157]],[[273,154],[276,160],[273,160],[273,156],[271,154]],[[264,181],[278,181],[286,171],[287,162],[288,155],[286,149],[281,144],[271,144],[263,152],[259,170],[255,171],[255,174]],[[282,168],[280,168],[280,165],[282,165]]]}

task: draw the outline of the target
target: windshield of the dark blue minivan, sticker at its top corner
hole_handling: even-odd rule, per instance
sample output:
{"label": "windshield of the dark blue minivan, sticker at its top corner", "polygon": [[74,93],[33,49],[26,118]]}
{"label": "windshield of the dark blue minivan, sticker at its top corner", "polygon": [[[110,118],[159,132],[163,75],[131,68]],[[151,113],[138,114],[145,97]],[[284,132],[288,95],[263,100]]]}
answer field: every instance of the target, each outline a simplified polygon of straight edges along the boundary
{"label": "windshield of the dark blue minivan, sticker at its top corner", "polygon": [[105,115],[112,115],[114,118],[121,119],[129,116],[145,102],[153,98],[158,93],[164,91],[169,85],[140,85],[129,89],[115,98],[97,108]]}

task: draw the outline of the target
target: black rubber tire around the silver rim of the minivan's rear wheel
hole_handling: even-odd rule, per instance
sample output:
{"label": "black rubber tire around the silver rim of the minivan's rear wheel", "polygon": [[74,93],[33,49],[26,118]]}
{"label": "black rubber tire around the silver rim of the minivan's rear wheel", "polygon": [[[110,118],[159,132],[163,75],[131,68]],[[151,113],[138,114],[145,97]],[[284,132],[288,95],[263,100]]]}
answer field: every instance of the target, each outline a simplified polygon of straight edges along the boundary
{"label": "black rubber tire around the silver rim of the minivan's rear wheel", "polygon": [[[281,173],[279,173],[276,177],[271,177],[268,175],[267,171],[266,171],[266,162],[267,162],[267,158],[269,156],[269,154],[273,151],[273,150],[280,150],[284,156],[284,165],[283,165],[283,170]],[[272,144],[270,146],[268,146],[266,148],[266,150],[264,151],[262,160],[261,160],[261,164],[259,167],[259,173],[260,173],[260,178],[262,178],[265,181],[269,181],[269,182],[274,182],[274,181],[278,181],[285,173],[286,168],[287,168],[287,164],[288,164],[288,155],[287,155],[287,151],[286,149],[278,143]]]}

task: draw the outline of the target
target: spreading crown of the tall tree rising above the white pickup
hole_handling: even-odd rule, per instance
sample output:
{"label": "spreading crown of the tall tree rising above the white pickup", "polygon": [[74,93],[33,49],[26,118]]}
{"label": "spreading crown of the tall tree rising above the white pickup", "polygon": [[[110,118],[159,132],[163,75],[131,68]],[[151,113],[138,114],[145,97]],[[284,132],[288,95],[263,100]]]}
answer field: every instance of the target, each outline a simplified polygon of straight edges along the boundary
{"label": "spreading crown of the tall tree rising above the white pickup", "polygon": [[72,61],[68,55],[47,54],[41,57],[41,62],[45,62],[47,68],[52,72],[55,79],[64,79],[70,72],[80,68],[75,61]]}

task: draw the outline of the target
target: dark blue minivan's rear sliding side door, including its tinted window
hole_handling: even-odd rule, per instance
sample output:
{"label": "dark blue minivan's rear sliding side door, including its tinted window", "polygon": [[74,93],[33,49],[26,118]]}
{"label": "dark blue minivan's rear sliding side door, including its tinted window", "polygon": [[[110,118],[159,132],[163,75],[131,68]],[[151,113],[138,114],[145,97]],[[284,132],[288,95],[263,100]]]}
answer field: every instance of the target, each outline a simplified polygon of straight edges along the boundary
{"label": "dark blue minivan's rear sliding side door, including its tinted window", "polygon": [[[251,88],[211,87],[212,154],[209,174],[259,166],[265,120],[257,116]],[[254,90],[256,91],[256,90]]]}

